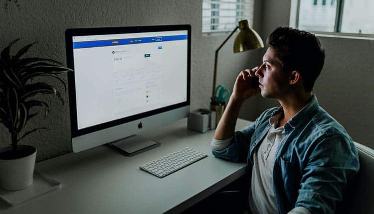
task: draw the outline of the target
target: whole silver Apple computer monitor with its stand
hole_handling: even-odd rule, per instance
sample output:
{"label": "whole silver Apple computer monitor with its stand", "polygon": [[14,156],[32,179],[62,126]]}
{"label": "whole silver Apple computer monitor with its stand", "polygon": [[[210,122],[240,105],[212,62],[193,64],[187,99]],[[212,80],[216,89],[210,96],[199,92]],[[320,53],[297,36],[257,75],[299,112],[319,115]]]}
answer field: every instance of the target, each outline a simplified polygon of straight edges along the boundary
{"label": "whole silver Apple computer monitor with its stand", "polygon": [[134,155],[158,146],[137,133],[187,117],[190,25],[67,29],[65,39],[74,152],[110,143]]}

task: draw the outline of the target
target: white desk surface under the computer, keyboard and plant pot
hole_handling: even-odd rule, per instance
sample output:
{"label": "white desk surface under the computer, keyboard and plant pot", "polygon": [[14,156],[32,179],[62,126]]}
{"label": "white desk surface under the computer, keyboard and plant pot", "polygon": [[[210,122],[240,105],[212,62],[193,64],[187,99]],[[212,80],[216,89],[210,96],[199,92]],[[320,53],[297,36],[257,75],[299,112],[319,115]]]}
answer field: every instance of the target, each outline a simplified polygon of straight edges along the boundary
{"label": "white desk surface under the computer, keyboard and plant pot", "polygon": [[[239,119],[236,129],[250,122]],[[62,187],[38,198],[7,207],[1,214],[134,214],[179,213],[245,173],[245,164],[231,163],[211,154],[214,130],[187,130],[187,119],[173,122],[142,136],[161,146],[133,157],[99,146],[36,164]],[[165,178],[141,171],[139,166],[183,147],[208,154]]]}

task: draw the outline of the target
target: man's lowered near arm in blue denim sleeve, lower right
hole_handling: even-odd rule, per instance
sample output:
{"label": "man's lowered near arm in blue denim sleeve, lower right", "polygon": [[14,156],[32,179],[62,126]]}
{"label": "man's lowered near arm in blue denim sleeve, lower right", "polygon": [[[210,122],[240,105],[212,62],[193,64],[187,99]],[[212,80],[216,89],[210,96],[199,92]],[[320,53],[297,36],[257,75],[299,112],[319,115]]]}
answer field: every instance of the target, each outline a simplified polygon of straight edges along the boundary
{"label": "man's lowered near arm in blue denim sleeve, lower right", "polygon": [[359,171],[359,157],[354,143],[335,135],[317,143],[303,170],[295,207],[311,213],[335,213],[343,199],[343,190]]}

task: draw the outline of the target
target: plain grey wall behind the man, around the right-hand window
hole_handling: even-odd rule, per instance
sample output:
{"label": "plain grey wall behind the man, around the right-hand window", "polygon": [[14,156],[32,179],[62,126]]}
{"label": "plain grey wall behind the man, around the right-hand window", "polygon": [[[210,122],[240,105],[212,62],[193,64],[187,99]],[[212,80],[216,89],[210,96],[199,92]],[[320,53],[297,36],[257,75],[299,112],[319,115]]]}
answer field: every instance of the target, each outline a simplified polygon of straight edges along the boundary
{"label": "plain grey wall behind the man, around the right-hand window", "polygon": [[[262,36],[277,26],[288,26],[289,14],[290,0],[264,0]],[[314,93],[355,141],[374,148],[374,40],[319,38],[326,58]],[[274,106],[279,103],[258,98],[257,115]]]}

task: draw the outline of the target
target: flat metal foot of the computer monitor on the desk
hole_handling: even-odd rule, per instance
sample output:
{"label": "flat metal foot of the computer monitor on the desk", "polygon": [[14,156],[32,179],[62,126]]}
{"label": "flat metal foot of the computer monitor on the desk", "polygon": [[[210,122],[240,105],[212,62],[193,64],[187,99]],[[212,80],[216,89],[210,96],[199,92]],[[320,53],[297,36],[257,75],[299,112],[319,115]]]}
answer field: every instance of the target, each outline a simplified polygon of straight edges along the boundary
{"label": "flat metal foot of the computer monitor on the desk", "polygon": [[134,156],[147,150],[156,148],[160,146],[160,143],[140,135],[131,135],[129,137],[107,143],[107,145],[121,152],[125,156]]}

